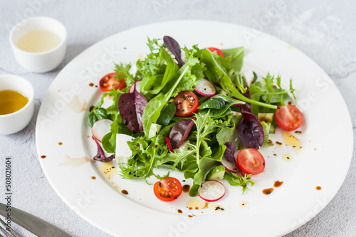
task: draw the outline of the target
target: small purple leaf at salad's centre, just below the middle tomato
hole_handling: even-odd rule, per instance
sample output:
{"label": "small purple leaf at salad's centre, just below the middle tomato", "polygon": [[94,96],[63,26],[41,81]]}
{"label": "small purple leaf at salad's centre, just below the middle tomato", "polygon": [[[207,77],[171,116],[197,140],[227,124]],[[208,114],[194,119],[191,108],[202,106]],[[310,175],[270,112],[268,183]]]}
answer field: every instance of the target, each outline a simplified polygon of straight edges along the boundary
{"label": "small purple leaf at salad's centre, just below the middle tomato", "polygon": [[[197,118],[193,119],[195,120]],[[179,146],[184,143],[184,140],[187,139],[193,125],[194,121],[192,119],[182,119],[174,124],[169,133],[169,140],[171,141],[172,148],[179,148]]]}

